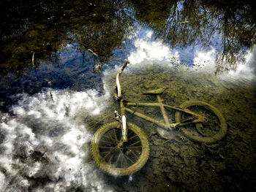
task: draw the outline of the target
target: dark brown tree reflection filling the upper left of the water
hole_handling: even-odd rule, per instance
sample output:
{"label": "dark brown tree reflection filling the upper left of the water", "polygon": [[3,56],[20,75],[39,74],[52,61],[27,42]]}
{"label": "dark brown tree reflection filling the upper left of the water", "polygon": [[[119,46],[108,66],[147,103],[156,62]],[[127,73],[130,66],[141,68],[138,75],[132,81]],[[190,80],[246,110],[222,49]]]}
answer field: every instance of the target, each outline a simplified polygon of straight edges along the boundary
{"label": "dark brown tree reflection filling the upper left of the water", "polygon": [[[55,62],[67,42],[108,61],[129,32],[131,18],[115,1],[8,1],[1,5],[1,75],[20,74],[35,53],[38,61]],[[8,7],[6,9],[6,7]],[[101,66],[99,66],[101,67]]]}

